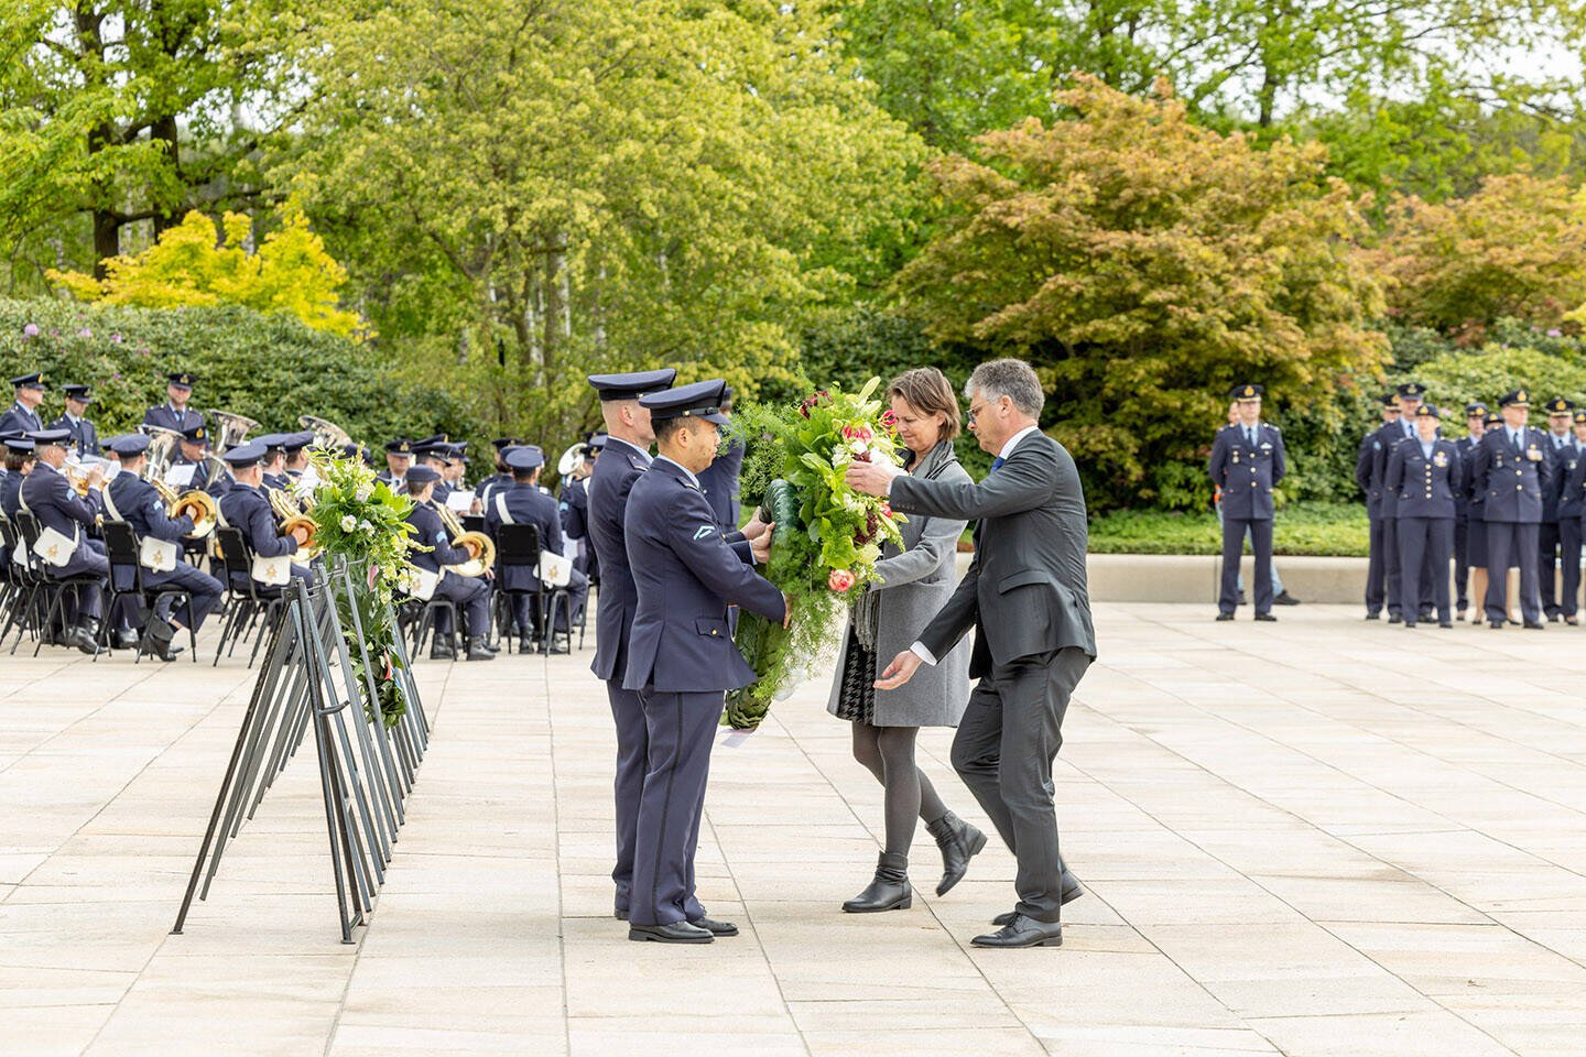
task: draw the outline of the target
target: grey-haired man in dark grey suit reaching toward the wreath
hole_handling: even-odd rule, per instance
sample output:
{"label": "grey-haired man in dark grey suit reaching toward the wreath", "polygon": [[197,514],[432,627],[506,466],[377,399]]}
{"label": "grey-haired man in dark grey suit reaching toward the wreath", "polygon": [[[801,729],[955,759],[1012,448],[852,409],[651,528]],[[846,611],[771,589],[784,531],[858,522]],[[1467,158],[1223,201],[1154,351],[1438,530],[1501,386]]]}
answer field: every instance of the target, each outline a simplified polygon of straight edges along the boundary
{"label": "grey-haired man in dark grey suit reaching toward the wreath", "polygon": [[902,513],[975,520],[975,556],[953,597],[882,672],[895,689],[975,629],[979,685],[953,738],[953,767],[1018,859],[1018,903],[983,948],[1061,946],[1063,903],[1082,889],[1058,854],[1052,761],[1063,713],[1096,658],[1085,586],[1085,493],[1067,450],[1040,433],[1040,382],[1021,360],[982,363],[964,387],[969,428],[996,458],[975,483],[852,463],[849,483]]}

